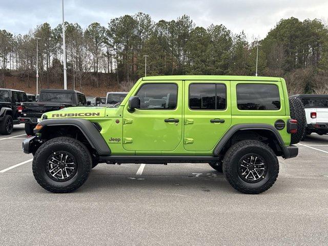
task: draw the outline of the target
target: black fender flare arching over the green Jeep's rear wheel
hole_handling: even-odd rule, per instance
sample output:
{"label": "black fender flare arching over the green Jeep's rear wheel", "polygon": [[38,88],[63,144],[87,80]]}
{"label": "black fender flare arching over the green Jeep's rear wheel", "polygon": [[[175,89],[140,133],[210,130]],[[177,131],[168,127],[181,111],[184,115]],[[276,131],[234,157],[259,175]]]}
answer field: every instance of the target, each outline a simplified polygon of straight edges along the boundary
{"label": "black fender flare arching over the green Jeep's rear wheel", "polygon": [[227,144],[227,142],[230,140],[232,135],[240,130],[269,130],[271,131],[277,138],[280,147],[284,146],[284,141],[282,140],[282,137],[280,136],[278,130],[269,124],[237,124],[234,125],[232,128],[230,128],[220,139],[220,141],[217,143],[213,150],[213,155],[218,156],[221,152],[224,145]]}

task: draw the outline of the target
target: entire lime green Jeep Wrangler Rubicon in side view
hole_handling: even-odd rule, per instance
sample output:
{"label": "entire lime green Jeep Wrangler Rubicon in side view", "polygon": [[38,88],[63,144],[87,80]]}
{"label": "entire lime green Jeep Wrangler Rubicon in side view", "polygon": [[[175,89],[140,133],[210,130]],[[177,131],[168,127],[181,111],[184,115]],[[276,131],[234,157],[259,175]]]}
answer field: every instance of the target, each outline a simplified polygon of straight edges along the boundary
{"label": "entire lime green Jeep Wrangler Rubicon in side view", "polygon": [[277,156],[297,156],[305,122],[282,78],[154,76],[115,107],[45,113],[23,150],[51,192],[76,190],[98,163],[206,162],[236,190],[258,194],[276,181]]}

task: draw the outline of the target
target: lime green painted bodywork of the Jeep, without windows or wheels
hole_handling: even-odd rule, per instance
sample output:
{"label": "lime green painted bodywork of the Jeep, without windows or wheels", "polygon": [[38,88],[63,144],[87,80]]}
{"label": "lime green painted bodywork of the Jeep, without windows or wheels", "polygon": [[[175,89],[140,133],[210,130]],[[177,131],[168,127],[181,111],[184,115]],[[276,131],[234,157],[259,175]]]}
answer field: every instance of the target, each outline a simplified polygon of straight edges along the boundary
{"label": "lime green painted bodywork of the Jeep, without windows or wheels", "polygon": [[[174,110],[128,111],[128,100],[141,85],[175,83],[178,86],[177,107]],[[189,85],[218,83],[227,88],[225,110],[191,110]],[[279,110],[238,110],[236,85],[240,83],[274,84],[279,89]],[[84,118],[101,126],[100,134],[109,145],[112,155],[212,155],[220,138],[236,124],[270,124],[277,119],[290,119],[285,80],[275,77],[177,75],[140,78],[117,108],[72,107],[47,112],[50,118]],[[165,119],[179,122],[165,122]],[[224,119],[224,123],[211,123]],[[291,134],[286,127],[279,131],[284,144],[290,145]]]}

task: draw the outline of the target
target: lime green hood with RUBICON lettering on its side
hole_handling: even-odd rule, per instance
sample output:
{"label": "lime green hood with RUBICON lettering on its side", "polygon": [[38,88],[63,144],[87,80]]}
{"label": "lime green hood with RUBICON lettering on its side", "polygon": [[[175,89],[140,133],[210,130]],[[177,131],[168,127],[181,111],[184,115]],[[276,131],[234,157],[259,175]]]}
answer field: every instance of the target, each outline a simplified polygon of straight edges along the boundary
{"label": "lime green hood with RUBICON lettering on its side", "polygon": [[104,107],[69,107],[44,113],[42,119],[105,117],[105,112]]}

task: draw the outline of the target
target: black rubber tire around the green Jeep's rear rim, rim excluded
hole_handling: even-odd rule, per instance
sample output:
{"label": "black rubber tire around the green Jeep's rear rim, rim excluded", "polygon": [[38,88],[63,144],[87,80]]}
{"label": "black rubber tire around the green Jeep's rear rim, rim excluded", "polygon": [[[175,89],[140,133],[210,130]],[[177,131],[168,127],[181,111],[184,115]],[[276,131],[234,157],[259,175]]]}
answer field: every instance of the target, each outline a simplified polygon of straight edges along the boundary
{"label": "black rubber tire around the green Jeep's rear rim, rim excluded", "polygon": [[[244,181],[238,173],[239,161],[247,154],[261,156],[267,164],[267,173],[258,182]],[[276,154],[267,145],[257,140],[242,140],[229,148],[223,158],[223,174],[230,185],[244,194],[259,194],[273,186],[279,174],[279,162]]]}

